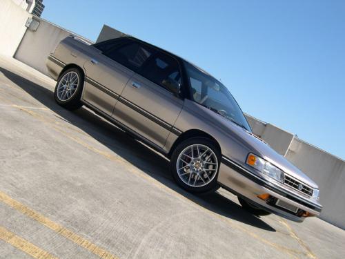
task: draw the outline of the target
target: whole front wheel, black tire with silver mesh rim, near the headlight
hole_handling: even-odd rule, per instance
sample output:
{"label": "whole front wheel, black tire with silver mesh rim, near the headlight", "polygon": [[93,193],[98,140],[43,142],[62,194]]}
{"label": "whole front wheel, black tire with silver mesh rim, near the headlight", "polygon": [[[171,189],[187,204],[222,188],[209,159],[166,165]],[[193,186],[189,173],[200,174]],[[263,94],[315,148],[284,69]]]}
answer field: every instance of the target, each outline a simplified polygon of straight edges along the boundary
{"label": "whole front wheel, black tire with silver mesh rim, near the headlight", "polygon": [[213,141],[193,137],[181,142],[172,152],[170,173],[179,186],[191,193],[216,191],[220,157]]}

